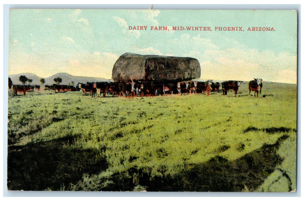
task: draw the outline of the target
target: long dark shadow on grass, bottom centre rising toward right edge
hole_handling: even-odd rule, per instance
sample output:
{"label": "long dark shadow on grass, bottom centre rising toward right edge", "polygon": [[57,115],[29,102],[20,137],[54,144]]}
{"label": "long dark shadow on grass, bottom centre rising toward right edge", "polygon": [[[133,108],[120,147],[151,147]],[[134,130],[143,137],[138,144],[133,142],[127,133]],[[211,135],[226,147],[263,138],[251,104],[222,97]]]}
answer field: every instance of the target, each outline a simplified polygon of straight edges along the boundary
{"label": "long dark shadow on grass, bottom centre rising toward right edge", "polygon": [[[215,156],[206,163],[187,164],[176,175],[151,177],[147,170],[131,168],[127,173],[112,175],[115,185],[104,190],[132,191],[136,186],[143,186],[147,191],[154,192],[252,192],[282,163],[283,158],[276,151],[288,137],[283,135],[275,144],[265,144],[235,161]],[[129,178],[122,175],[129,175]]]}

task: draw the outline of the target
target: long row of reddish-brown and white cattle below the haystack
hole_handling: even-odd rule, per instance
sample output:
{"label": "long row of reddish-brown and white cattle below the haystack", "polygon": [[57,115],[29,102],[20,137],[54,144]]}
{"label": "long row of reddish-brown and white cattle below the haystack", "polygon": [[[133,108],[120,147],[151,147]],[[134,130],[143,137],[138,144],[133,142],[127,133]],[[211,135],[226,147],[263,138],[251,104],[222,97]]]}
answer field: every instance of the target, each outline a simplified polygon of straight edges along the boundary
{"label": "long row of reddish-brown and white cattle below the haystack", "polygon": [[[249,95],[254,91],[254,96],[260,92],[262,88],[262,79],[257,78],[249,82]],[[228,90],[232,90],[237,96],[237,91],[243,81],[224,81],[221,83],[223,95],[227,95]],[[76,87],[71,85],[45,85],[44,90],[54,90],[54,92],[66,91],[82,91],[84,95],[90,93],[91,96],[98,97],[106,95],[119,95],[119,96],[147,96],[147,95],[164,95],[164,94],[192,94],[192,93],[206,93],[207,96],[210,92],[219,92],[220,83],[213,83],[212,80],[205,82],[202,81],[183,81],[183,82],[168,82],[168,83],[153,83],[153,82],[87,82],[78,83]],[[14,95],[17,92],[33,91],[34,89],[40,90],[40,86],[31,85],[13,85]]]}

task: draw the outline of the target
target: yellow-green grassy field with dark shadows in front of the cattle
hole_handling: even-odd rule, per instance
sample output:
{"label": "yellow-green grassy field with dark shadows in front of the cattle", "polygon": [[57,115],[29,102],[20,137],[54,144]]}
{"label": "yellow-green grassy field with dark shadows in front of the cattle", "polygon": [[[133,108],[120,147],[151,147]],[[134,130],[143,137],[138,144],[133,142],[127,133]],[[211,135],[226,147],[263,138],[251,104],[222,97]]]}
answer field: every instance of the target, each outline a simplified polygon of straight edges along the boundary
{"label": "yellow-green grassy field with dark shadows in front of the cattle", "polygon": [[9,92],[8,189],[294,190],[297,88],[263,85],[259,98],[246,82],[236,98]]}

